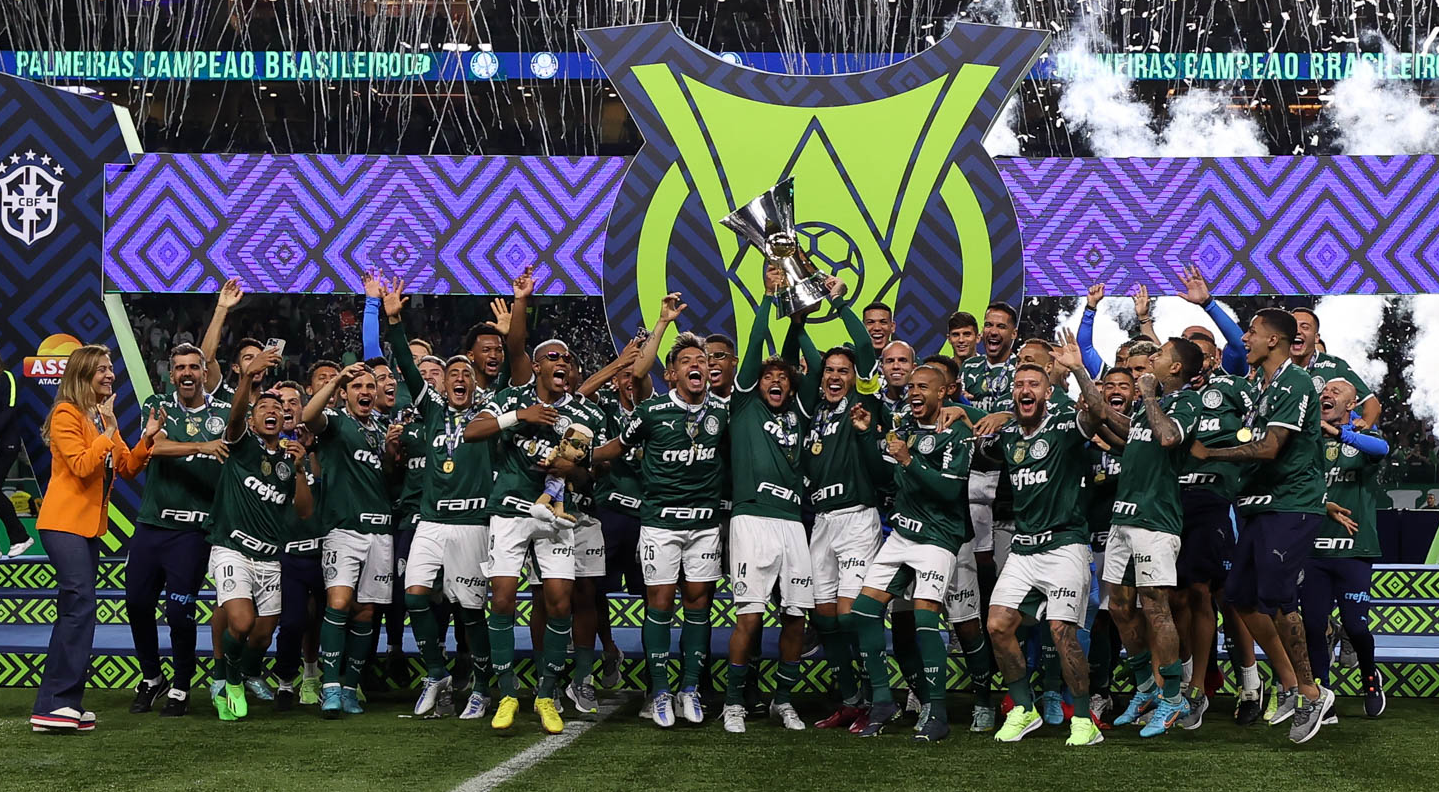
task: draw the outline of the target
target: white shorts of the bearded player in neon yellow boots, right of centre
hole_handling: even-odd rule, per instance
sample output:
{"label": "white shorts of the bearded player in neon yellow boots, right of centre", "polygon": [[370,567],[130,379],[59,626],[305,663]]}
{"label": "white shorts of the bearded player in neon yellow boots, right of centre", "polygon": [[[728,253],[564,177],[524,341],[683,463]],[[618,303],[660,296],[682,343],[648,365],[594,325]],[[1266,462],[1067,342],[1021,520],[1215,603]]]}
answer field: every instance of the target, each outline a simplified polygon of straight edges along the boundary
{"label": "white shorts of the bearded player in neon yellow boots, right of centre", "polygon": [[1089,546],[1065,544],[1032,556],[1012,554],[1004,572],[999,573],[990,603],[1035,619],[1084,625],[1089,608]]}

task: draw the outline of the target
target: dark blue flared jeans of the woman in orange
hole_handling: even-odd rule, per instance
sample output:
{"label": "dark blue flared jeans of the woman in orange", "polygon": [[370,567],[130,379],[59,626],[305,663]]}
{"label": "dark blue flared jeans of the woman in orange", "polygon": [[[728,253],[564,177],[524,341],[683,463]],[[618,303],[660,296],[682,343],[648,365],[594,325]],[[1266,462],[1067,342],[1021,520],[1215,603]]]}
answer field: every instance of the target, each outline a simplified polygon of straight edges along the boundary
{"label": "dark blue flared jeans of the woman in orange", "polygon": [[85,681],[95,648],[95,576],[99,573],[99,539],[65,531],[39,531],[40,544],[55,566],[59,592],[55,629],[45,657],[45,675],[35,696],[35,713],[62,707],[83,713]]}

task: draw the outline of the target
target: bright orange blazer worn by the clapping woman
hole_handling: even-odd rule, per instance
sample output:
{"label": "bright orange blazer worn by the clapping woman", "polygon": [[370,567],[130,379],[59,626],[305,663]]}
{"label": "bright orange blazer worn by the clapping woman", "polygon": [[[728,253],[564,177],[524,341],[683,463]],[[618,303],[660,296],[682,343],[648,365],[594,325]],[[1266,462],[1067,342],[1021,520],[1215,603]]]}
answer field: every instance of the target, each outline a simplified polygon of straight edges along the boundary
{"label": "bright orange blazer worn by the clapping woman", "polygon": [[115,439],[102,435],[95,422],[75,405],[55,406],[50,418],[50,484],[40,501],[35,527],[83,537],[102,536],[109,528],[109,487],[105,482],[105,458],[114,462],[115,475],[134,478],[150,462],[153,446],[141,442],[134,451],[118,432]]}

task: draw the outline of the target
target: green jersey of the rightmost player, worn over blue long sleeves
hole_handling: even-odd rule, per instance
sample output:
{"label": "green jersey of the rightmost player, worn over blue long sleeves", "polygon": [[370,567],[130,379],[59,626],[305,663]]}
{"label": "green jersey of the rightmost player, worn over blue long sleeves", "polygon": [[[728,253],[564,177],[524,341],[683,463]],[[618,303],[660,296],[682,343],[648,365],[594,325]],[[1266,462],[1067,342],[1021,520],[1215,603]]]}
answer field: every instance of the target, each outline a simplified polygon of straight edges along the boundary
{"label": "green jersey of the rightmost player, worn over blue long sleeves", "polygon": [[[1373,429],[1361,433],[1380,438]],[[1314,539],[1314,557],[1377,559],[1383,554],[1379,549],[1374,500],[1379,467],[1383,462],[1383,456],[1370,456],[1340,438],[1324,438],[1325,500],[1350,510],[1350,518],[1358,523],[1358,531],[1351,536],[1348,528],[1324,517],[1320,534]]]}

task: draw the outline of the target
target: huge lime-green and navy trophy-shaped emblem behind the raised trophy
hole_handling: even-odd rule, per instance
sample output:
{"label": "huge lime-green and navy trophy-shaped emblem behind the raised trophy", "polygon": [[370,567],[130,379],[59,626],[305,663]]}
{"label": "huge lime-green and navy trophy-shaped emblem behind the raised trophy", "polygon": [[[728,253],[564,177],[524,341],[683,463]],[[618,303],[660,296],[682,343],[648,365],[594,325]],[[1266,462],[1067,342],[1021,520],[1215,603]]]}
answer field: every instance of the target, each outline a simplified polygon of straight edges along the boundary
{"label": "huge lime-green and navy trophy-shaped emblem behind the raised trophy", "polygon": [[[1019,222],[983,138],[1048,45],[1043,30],[955,24],[914,58],[842,75],[758,72],[668,22],[580,36],[645,138],[604,245],[616,338],[653,323],[645,312],[658,304],[637,284],[655,282],[686,284],[696,321],[745,337],[764,256],[720,220],[790,177],[810,261],[853,304],[892,305],[901,336],[957,308],[1022,301]],[[812,328],[819,347],[848,338],[825,318]]]}

